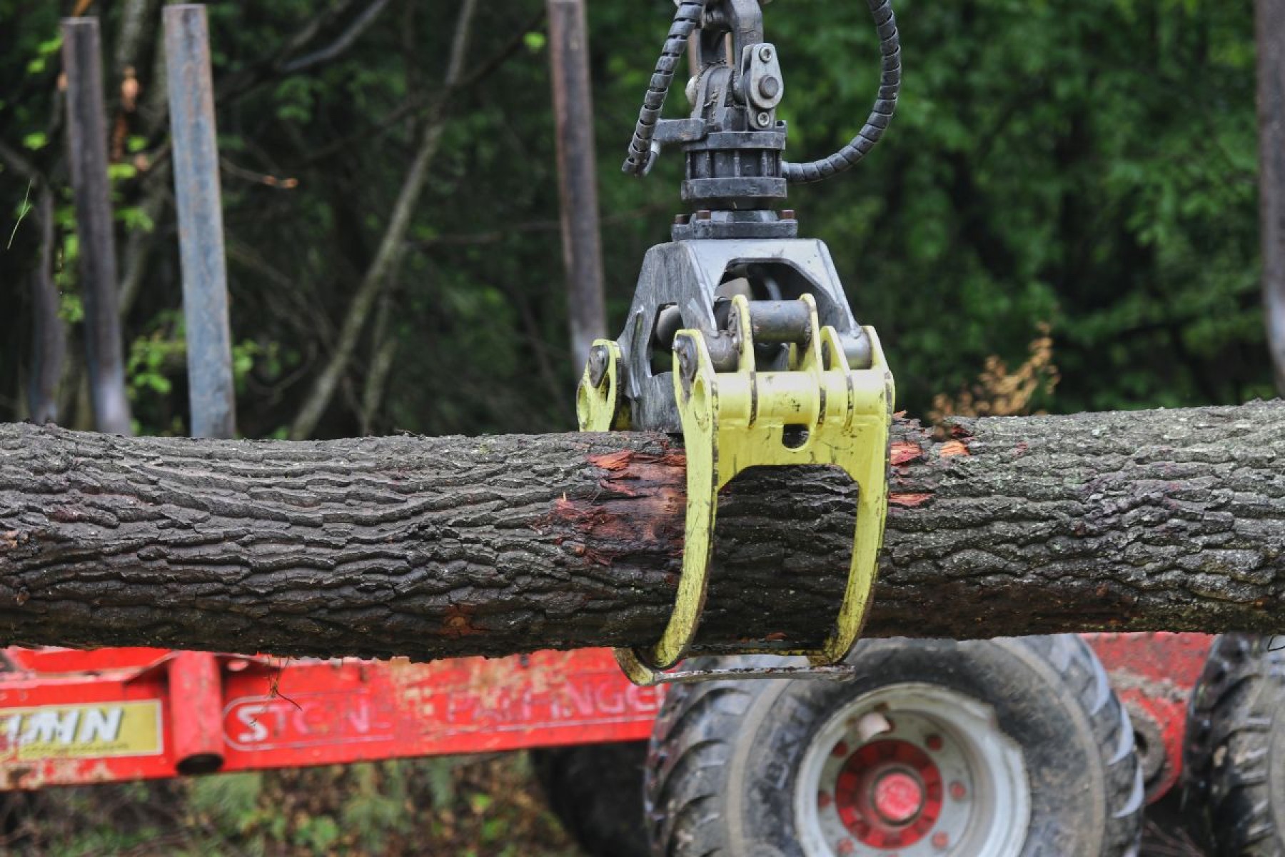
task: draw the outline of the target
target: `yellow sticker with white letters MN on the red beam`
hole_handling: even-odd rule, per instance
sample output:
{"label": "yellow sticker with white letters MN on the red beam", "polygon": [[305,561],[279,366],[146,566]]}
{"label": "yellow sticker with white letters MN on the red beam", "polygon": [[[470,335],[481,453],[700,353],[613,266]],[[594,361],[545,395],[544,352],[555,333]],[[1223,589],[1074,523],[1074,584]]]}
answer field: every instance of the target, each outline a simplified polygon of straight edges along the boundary
{"label": "yellow sticker with white letters MN on the red beam", "polygon": [[28,762],[157,755],[161,702],[0,708],[0,754]]}

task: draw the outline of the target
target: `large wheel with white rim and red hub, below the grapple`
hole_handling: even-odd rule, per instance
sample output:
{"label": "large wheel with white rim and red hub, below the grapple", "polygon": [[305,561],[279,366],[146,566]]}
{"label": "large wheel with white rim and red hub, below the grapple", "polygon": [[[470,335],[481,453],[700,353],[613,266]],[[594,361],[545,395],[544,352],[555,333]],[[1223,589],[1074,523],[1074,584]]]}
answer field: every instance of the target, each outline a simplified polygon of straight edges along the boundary
{"label": "large wheel with white rim and red hub, below the grapple", "polygon": [[[693,667],[765,663],[759,658]],[[843,682],[669,691],[655,857],[1133,857],[1133,730],[1077,636],[866,640]]]}

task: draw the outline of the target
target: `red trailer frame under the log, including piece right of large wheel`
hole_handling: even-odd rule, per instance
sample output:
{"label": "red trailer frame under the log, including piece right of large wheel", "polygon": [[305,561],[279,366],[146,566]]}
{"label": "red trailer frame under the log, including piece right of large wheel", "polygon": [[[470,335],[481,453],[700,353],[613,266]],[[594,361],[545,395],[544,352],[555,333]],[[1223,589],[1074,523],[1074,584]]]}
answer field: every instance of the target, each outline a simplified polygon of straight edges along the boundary
{"label": "red trailer frame under the log, including piece right of large wheel", "polygon": [[[1148,797],[1177,781],[1210,637],[1087,635],[1132,716]],[[662,689],[607,649],[511,658],[283,659],[5,649],[0,790],[646,739]]]}

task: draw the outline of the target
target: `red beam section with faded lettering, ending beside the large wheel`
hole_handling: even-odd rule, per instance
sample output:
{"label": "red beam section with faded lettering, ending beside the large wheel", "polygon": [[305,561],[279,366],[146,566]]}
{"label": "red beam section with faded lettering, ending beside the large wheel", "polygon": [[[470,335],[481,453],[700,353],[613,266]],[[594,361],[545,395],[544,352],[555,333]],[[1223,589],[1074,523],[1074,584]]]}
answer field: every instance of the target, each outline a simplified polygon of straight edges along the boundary
{"label": "red beam section with faded lettering, ending beside the large wheel", "polygon": [[225,685],[226,770],[646,738],[655,689],[604,650],[294,664]]}

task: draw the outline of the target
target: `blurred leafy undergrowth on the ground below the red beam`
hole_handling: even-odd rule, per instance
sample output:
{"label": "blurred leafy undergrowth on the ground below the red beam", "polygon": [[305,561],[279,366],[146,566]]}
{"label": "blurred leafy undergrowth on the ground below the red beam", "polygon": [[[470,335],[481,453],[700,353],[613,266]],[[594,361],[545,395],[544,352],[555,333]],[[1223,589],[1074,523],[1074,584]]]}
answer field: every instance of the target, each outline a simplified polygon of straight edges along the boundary
{"label": "blurred leafy undergrowth on the ground below the red beam", "polygon": [[53,789],[10,822],[28,857],[580,856],[520,753]]}

